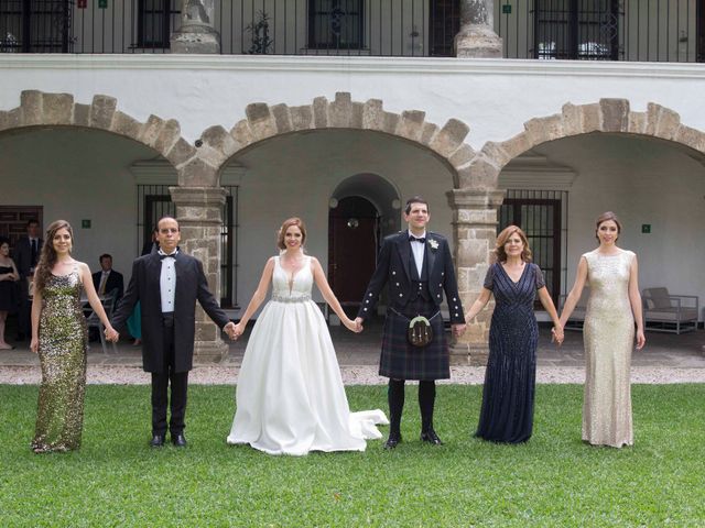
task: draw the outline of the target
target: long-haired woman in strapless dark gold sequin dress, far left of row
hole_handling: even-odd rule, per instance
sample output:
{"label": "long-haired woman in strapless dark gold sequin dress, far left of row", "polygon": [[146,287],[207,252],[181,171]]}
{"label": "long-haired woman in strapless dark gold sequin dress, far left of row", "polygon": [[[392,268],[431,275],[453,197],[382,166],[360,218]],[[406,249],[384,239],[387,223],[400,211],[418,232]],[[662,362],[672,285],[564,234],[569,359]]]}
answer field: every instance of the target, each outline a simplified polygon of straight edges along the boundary
{"label": "long-haired woman in strapless dark gold sequin dress, far left of row", "polygon": [[32,441],[35,453],[70,451],[80,446],[88,345],[82,288],[105,324],[106,337],[111,341],[118,337],[96,294],[90,270],[70,256],[73,231],[68,222],[53,222],[45,240],[34,274],[30,343],[42,365]]}

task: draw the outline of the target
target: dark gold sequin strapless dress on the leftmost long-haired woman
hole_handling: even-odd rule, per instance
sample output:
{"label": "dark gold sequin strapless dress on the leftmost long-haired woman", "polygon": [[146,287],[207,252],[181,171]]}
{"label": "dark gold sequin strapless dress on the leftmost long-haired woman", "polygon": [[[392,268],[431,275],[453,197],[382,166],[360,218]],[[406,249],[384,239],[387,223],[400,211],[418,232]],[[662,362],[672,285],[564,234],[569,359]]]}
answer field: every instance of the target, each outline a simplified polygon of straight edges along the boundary
{"label": "dark gold sequin strapless dress on the leftmost long-haired woman", "polygon": [[70,451],[80,446],[88,344],[80,289],[75,270],[66,276],[52,275],[42,294],[35,452]]}

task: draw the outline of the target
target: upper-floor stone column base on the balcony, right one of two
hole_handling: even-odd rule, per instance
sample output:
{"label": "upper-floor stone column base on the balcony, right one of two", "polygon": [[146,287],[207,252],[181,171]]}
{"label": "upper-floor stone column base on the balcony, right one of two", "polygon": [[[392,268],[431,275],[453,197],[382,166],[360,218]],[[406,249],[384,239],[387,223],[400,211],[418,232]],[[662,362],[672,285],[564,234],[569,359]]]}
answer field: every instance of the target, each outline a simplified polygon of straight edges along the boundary
{"label": "upper-floor stone column base on the balcony, right one of two", "polygon": [[460,32],[455,35],[455,56],[501,58],[502,40],[495,33],[494,0],[460,0]]}

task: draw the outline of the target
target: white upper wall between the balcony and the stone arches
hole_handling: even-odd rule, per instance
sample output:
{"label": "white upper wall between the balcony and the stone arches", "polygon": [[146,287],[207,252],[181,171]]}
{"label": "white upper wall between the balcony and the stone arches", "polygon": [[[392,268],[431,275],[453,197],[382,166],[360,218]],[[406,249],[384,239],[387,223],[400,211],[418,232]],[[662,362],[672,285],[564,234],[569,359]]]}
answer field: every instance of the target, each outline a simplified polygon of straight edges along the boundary
{"label": "white upper wall between the balcony and the stone arches", "polygon": [[352,100],[382,99],[389,111],[423,110],[426,121],[456,118],[470,127],[476,148],[523,130],[529,119],[561,111],[565,102],[650,101],[705,129],[699,64],[589,63],[391,57],[4,55],[0,109],[19,106],[24,89],[67,92],[77,102],[96,94],[144,121],[174,118],[195,140],[210,125],[230,129],[251,102],[307,105],[349,91]]}

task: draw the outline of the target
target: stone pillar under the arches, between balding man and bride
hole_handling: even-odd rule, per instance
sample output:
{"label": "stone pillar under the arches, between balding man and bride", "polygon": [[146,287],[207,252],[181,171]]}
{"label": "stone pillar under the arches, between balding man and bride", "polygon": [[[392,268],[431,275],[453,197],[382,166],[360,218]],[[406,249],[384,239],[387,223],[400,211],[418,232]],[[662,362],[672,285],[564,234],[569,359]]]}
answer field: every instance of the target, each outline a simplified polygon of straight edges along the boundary
{"label": "stone pillar under the arches, between balding man and bride", "polygon": [[[170,187],[181,228],[180,246],[203,263],[208,287],[220,300],[220,227],[226,191],[221,187]],[[194,356],[199,362],[223,360],[228,345],[220,329],[196,307]]]}

